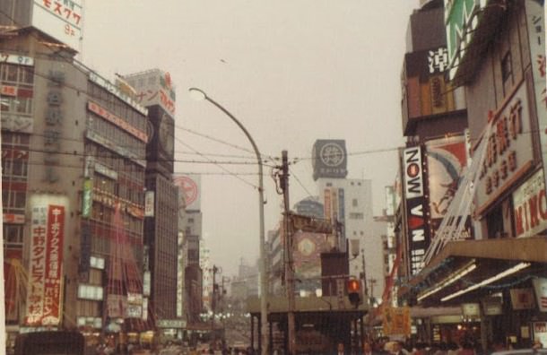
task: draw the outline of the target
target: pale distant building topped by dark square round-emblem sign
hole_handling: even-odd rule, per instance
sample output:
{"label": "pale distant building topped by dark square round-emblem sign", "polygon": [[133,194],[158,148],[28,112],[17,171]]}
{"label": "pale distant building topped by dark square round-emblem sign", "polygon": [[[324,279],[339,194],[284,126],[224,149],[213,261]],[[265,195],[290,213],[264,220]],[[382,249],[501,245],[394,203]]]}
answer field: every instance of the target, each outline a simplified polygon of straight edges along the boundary
{"label": "pale distant building topped by dark square round-emblem sign", "polygon": [[372,182],[346,177],[347,152],[342,140],[317,140],[312,161],[324,218],[336,227],[330,247],[348,254],[349,273],[361,280],[363,292],[367,279],[373,279],[379,294],[384,288],[383,230],[374,227]]}

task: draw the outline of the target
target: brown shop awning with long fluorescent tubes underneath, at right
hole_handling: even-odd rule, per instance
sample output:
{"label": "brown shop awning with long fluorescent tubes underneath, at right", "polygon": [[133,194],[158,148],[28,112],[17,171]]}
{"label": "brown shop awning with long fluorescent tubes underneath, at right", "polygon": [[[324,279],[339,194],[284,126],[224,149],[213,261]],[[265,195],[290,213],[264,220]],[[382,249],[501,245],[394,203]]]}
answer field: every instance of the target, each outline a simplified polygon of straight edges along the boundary
{"label": "brown shop awning with long fluorescent tubes underneath, at right", "polygon": [[502,282],[543,275],[546,264],[545,237],[453,241],[401,285],[399,295],[416,297],[418,303],[448,305],[448,300],[471,298],[477,290],[490,290]]}

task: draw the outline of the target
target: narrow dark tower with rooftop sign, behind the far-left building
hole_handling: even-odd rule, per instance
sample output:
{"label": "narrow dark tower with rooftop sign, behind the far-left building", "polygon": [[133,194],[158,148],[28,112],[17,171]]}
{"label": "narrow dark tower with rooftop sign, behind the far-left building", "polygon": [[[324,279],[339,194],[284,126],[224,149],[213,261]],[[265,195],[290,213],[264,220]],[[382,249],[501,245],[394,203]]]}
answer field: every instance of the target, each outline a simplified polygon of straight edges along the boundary
{"label": "narrow dark tower with rooftop sign, behind the far-left building", "polygon": [[[146,145],[145,189],[153,203],[144,220],[144,243],[152,274],[151,310],[159,325],[175,321],[181,299],[178,284],[178,188],[173,184],[175,159],[174,83],[169,73],[152,69],[126,74],[123,80],[135,89],[135,100],[148,109],[151,137]],[[169,321],[169,322],[165,322]],[[170,329],[170,328],[168,328]],[[164,330],[173,333],[171,330]],[[179,333],[180,330],[175,331]]]}

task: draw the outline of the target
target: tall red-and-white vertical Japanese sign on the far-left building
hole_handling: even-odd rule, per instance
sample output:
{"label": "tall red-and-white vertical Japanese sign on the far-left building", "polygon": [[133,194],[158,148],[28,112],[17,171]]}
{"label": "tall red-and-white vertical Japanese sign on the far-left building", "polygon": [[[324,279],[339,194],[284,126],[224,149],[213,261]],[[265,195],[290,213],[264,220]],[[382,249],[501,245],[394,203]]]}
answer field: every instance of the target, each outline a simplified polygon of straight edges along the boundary
{"label": "tall red-and-white vertical Japanese sign on the far-left building", "polygon": [[30,222],[27,325],[59,325],[62,310],[65,207],[35,205]]}

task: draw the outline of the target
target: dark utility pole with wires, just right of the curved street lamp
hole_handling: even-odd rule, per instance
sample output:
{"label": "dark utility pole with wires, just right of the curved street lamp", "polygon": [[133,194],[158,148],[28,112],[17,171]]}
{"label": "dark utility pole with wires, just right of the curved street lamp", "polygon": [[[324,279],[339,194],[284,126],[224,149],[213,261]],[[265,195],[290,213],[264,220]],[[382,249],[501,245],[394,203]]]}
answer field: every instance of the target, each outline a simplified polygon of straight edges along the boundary
{"label": "dark utility pole with wires, just right of the curved street lamp", "polygon": [[296,334],[294,325],[294,268],[292,264],[292,226],[291,206],[289,204],[289,159],[287,151],[282,151],[282,175],[280,185],[283,192],[284,228],[285,228],[285,285],[287,287],[287,300],[289,309],[287,312],[287,333],[289,337],[289,354],[296,353]]}

